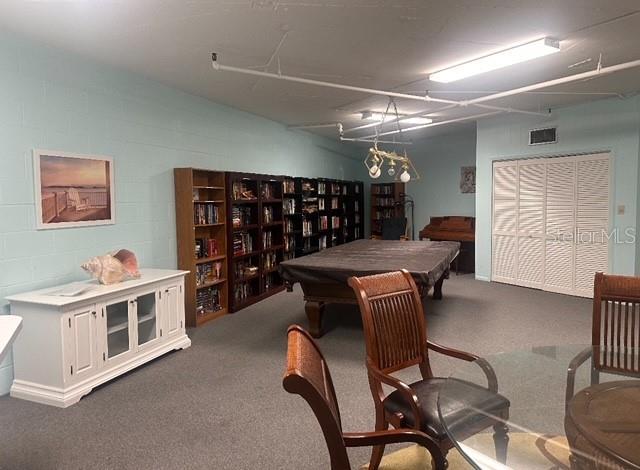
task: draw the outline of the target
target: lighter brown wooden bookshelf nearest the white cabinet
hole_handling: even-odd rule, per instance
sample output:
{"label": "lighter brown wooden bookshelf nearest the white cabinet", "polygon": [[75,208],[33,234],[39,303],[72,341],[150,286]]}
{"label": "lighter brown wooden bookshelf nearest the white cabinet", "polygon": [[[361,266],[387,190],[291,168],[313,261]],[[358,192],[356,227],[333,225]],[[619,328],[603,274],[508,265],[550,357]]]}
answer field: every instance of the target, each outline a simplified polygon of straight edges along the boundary
{"label": "lighter brown wooden bookshelf nearest the white cabinet", "polygon": [[195,327],[228,312],[226,189],[223,172],[175,168],[178,268],[185,278],[185,320]]}

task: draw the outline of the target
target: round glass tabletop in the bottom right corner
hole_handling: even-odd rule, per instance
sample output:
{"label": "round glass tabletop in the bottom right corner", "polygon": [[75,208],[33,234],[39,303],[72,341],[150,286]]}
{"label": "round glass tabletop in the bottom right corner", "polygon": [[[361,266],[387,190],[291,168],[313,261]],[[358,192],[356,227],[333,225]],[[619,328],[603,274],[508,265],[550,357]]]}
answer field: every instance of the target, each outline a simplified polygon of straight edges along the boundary
{"label": "round glass tabletop in the bottom right corner", "polygon": [[[590,345],[488,356],[455,370],[440,390],[438,412],[455,447],[477,469],[640,469],[639,359],[638,350],[605,353]],[[472,423],[444,411],[484,413],[465,409],[464,397],[487,387],[487,364],[510,402],[506,461],[496,458],[493,429],[473,434]]]}

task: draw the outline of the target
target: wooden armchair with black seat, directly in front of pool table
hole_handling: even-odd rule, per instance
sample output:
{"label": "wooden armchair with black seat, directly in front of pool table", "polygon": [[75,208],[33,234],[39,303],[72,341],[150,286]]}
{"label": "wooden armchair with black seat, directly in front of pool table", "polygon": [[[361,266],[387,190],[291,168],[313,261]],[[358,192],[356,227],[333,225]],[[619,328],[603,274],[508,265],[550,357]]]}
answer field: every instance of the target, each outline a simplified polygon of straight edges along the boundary
{"label": "wooden armchair with black seat, directly in front of pool table", "polygon": [[[367,371],[376,409],[376,430],[413,428],[425,432],[438,443],[442,459],[454,446],[438,411],[438,393],[446,378],[435,377],[429,351],[465,361],[477,361],[482,367],[488,388],[460,381],[465,393],[459,406],[440,410],[443,418],[456,421],[456,433],[471,436],[489,426],[494,428],[496,456],[506,461],[509,401],[498,394],[498,382],[491,366],[477,356],[446,348],[427,340],[426,321],[416,283],[402,270],[366,277],[352,277],[353,288],[366,339]],[[418,366],[422,380],[406,384],[391,374]],[[382,385],[395,390],[385,395]],[[478,410],[472,411],[472,410]],[[384,446],[374,447],[370,469],[376,470]]]}

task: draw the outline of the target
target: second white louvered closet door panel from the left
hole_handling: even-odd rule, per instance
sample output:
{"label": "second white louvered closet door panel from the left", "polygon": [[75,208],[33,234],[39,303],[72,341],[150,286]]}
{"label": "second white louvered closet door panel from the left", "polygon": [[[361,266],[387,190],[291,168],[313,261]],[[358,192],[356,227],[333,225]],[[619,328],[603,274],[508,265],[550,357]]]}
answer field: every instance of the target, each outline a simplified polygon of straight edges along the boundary
{"label": "second white louvered closet door panel from the left", "polygon": [[545,258],[545,174],[543,160],[518,162],[516,284],[542,288]]}

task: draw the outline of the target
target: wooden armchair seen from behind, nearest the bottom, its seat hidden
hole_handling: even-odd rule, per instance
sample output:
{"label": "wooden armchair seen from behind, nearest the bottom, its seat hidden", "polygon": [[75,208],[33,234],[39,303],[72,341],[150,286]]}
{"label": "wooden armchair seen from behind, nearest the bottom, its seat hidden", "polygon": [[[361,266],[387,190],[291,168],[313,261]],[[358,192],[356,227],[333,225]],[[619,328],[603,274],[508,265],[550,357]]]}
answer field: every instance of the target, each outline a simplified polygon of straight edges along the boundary
{"label": "wooden armchair seen from behind, nearest the bottom, its seat hidden", "polygon": [[311,335],[298,325],[290,326],[287,335],[287,370],[282,384],[287,392],[304,398],[316,415],[329,449],[331,470],[351,469],[347,447],[384,446],[402,442],[414,442],[425,447],[431,452],[438,468],[444,468],[444,460],[437,443],[420,431],[397,429],[363,433],[343,432],[329,367],[318,345]]}

